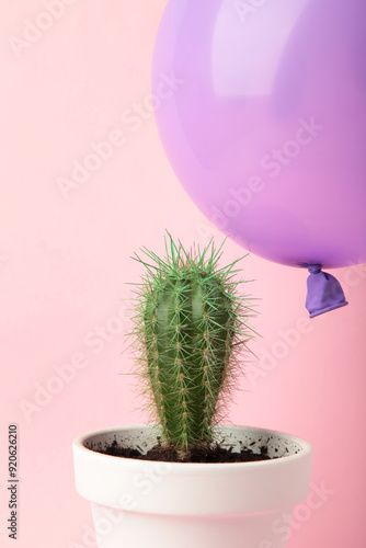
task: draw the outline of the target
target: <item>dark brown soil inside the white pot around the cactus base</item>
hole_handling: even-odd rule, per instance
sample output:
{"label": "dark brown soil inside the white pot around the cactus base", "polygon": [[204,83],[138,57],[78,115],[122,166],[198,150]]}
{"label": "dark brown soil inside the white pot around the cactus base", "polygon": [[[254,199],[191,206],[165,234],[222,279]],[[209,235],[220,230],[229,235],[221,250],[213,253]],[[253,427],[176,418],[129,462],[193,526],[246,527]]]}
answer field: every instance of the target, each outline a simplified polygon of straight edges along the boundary
{"label": "dark brown soil inside the white pot around the cactus base", "polygon": [[240,453],[233,452],[232,447],[224,447],[220,444],[211,446],[197,444],[191,453],[190,460],[181,460],[171,446],[163,446],[158,443],[146,455],[142,449],[122,447],[117,442],[113,442],[105,448],[93,447],[93,450],[104,455],[115,457],[136,458],[141,460],[159,460],[164,463],[253,463],[256,460],[271,460],[266,445],[261,448],[261,454],[253,453],[250,447],[242,447]]}

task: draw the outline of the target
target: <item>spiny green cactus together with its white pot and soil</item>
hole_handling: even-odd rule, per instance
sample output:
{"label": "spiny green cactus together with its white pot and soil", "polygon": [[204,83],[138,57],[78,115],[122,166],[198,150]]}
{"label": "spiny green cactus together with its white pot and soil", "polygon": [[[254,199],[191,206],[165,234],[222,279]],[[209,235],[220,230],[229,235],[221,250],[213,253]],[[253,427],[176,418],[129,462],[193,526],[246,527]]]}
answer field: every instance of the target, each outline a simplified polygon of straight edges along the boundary
{"label": "spiny green cactus together with its white pot and soil", "polygon": [[144,249],[134,336],[149,424],[73,443],[78,492],[91,502],[100,548],[283,548],[276,521],[310,488],[311,446],[281,432],[222,424],[252,338],[238,261],[222,244],[167,256]]}

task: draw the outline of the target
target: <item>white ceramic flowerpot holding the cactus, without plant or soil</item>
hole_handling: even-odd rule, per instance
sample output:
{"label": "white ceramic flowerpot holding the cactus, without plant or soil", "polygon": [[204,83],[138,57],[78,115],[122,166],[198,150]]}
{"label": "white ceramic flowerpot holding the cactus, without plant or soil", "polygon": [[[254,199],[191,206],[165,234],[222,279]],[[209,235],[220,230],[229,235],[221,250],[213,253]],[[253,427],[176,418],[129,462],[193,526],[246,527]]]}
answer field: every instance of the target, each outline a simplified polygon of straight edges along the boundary
{"label": "white ceramic flowerpot holding the cactus, without plant or soil", "polygon": [[284,548],[276,522],[308,494],[312,449],[281,432],[220,426],[217,439],[271,456],[255,463],[158,463],[91,450],[114,439],[147,452],[149,426],[91,432],[73,442],[76,486],[91,502],[100,548]]}

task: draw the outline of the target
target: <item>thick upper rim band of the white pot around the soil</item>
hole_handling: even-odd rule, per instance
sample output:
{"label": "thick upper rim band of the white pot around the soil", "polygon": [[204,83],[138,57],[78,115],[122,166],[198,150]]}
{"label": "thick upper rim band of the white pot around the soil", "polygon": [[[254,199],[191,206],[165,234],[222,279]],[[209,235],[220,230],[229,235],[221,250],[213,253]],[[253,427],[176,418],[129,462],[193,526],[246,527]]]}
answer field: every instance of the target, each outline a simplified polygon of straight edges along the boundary
{"label": "thick upper rim band of the white pot around the soil", "polygon": [[232,441],[237,446],[255,441],[256,448],[262,444],[261,436],[273,436],[271,453],[276,448],[296,453],[250,463],[134,459],[98,453],[85,447],[85,442],[101,435],[94,443],[108,443],[114,435],[125,433],[126,443],[137,439],[146,448],[155,443],[153,424],[101,429],[73,442],[77,491],[102,506],[165,515],[266,512],[289,507],[307,496],[312,467],[312,447],[308,442],[293,434],[251,426],[220,424],[216,432],[226,434],[226,443]]}

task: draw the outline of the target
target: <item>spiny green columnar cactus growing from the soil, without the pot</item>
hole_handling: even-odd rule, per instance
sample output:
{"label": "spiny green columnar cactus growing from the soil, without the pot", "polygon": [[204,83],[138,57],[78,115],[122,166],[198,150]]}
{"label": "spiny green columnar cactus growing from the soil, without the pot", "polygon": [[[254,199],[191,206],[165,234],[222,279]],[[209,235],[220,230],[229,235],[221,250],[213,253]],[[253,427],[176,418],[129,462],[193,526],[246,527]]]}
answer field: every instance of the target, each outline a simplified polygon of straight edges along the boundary
{"label": "spiny green columnar cactus growing from the soil, without the pot", "polygon": [[[218,267],[221,249],[214,243],[187,253],[168,233],[164,260],[149,258],[135,299],[135,329],[145,396],[161,425],[163,439],[182,460],[197,444],[210,444],[213,426],[222,420],[226,397],[236,386],[239,352],[247,347],[253,315],[237,293],[235,265]],[[153,264],[151,264],[151,261]]]}

